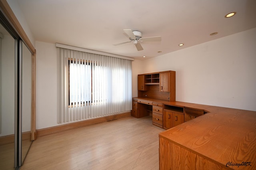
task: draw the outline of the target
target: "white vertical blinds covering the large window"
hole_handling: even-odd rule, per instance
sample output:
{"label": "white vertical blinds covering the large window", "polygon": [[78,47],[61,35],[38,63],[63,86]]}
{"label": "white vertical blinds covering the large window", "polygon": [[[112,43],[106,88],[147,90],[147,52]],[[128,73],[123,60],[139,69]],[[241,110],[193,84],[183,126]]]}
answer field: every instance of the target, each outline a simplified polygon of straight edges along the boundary
{"label": "white vertical blinds covering the large window", "polygon": [[60,113],[67,123],[132,110],[132,66],[128,59],[58,47]]}

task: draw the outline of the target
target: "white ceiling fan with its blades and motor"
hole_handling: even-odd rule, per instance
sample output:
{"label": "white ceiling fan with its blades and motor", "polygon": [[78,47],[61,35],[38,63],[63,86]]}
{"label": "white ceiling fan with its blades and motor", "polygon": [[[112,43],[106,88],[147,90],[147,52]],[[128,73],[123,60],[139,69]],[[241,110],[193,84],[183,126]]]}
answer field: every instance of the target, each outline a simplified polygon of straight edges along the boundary
{"label": "white ceiling fan with its blades and motor", "polygon": [[150,42],[150,41],[158,42],[158,41],[162,40],[161,36],[142,38],[141,32],[132,31],[130,29],[124,29],[124,32],[129,36],[130,41],[116,43],[116,44],[113,44],[113,45],[121,45],[121,44],[124,44],[124,43],[133,42],[133,44],[136,46],[137,50],[141,51],[141,50],[143,50],[143,48],[140,45],[140,42]]}

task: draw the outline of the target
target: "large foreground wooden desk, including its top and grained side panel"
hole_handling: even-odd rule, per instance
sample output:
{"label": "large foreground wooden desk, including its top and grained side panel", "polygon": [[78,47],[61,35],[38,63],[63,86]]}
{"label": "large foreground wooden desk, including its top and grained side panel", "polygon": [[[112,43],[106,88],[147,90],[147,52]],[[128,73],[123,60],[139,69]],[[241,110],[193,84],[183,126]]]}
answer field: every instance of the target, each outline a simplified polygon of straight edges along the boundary
{"label": "large foreground wooden desk, including its top and grained side panel", "polygon": [[256,112],[183,102],[207,111],[159,134],[160,170],[256,169]]}

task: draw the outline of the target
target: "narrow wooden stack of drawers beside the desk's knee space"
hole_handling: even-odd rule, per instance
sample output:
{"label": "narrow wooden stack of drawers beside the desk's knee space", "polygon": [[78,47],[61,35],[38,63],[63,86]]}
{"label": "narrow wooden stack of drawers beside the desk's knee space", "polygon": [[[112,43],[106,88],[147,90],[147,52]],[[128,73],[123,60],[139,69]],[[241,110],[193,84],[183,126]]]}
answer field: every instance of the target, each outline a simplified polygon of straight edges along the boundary
{"label": "narrow wooden stack of drawers beside the desk's knee space", "polygon": [[153,103],[152,124],[163,128],[163,107],[162,103]]}

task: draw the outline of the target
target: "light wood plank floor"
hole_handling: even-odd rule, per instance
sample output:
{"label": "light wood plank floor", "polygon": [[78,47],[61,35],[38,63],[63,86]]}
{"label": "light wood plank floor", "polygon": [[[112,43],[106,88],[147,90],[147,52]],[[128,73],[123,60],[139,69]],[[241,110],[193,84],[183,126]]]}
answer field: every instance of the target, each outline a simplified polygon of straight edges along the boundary
{"label": "light wood plank floor", "polygon": [[21,170],[158,170],[152,117],[126,117],[39,137]]}

